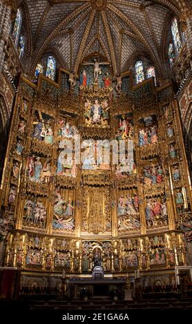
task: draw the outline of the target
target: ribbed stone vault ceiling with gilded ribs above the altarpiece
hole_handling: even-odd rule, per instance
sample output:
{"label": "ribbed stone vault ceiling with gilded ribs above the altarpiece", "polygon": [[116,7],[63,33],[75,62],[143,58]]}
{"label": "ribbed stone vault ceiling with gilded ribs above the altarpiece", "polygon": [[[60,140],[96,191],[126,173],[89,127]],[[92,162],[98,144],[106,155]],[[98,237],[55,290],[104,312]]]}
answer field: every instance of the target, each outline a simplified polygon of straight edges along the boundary
{"label": "ribbed stone vault ceiling with gilded ribs above the altarpiece", "polygon": [[31,64],[44,52],[57,52],[68,70],[77,71],[89,54],[102,54],[122,72],[137,52],[146,52],[162,70],[165,26],[184,0],[23,0],[30,37]]}

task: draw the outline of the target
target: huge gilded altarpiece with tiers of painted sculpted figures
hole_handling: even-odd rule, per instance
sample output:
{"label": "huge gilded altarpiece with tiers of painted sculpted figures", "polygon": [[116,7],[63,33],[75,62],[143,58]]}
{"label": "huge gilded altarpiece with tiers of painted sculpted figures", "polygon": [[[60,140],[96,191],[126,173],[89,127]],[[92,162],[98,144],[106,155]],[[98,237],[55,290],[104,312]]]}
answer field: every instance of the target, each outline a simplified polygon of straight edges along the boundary
{"label": "huge gilded altarpiece with tiers of painted sculpted figures", "polygon": [[1,184],[5,265],[71,274],[186,265],[192,201],[177,102],[97,84],[79,97],[23,89]]}

